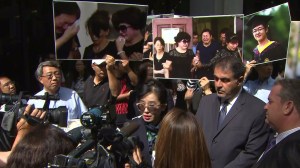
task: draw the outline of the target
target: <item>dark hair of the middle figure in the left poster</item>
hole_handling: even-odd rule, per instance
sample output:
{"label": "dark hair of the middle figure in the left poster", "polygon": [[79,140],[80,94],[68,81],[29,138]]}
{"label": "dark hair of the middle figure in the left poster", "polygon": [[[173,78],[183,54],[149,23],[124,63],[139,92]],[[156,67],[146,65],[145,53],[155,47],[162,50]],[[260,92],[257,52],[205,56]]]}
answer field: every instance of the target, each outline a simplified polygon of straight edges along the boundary
{"label": "dark hair of the middle figure in the left poster", "polygon": [[86,29],[99,38],[101,30],[109,30],[109,14],[105,10],[96,10],[86,21]]}

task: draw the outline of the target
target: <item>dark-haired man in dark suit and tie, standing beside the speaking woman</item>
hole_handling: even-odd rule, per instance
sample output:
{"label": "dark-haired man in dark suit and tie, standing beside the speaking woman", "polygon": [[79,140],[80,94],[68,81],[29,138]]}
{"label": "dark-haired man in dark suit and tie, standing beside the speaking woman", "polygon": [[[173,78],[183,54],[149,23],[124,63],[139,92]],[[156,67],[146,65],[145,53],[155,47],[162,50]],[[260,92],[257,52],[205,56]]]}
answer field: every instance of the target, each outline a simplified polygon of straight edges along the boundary
{"label": "dark-haired man in dark suit and tie, standing beside the speaking woman", "polygon": [[251,167],[266,147],[264,102],[242,89],[245,66],[225,56],[214,64],[216,93],[202,97],[196,113],[212,168]]}

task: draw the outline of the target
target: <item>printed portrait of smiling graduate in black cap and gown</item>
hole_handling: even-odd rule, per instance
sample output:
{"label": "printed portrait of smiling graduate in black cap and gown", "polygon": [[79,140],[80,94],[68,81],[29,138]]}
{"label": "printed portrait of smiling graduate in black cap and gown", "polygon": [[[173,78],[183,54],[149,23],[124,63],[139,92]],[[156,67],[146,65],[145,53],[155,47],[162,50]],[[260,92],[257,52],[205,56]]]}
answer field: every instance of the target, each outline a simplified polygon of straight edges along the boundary
{"label": "printed portrait of smiling graduate in black cap and gown", "polygon": [[245,16],[244,21],[245,61],[286,59],[291,22],[287,3]]}

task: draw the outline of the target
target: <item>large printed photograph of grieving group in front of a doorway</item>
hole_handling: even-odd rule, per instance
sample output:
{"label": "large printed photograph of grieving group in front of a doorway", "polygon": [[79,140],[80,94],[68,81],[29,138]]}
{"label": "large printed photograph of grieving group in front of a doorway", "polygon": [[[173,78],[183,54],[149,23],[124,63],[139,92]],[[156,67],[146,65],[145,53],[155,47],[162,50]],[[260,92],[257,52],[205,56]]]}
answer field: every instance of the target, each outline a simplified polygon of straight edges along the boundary
{"label": "large printed photograph of grieving group in front of a doorway", "polygon": [[243,59],[243,15],[159,18],[152,23],[157,78],[213,80],[214,58],[229,54]]}

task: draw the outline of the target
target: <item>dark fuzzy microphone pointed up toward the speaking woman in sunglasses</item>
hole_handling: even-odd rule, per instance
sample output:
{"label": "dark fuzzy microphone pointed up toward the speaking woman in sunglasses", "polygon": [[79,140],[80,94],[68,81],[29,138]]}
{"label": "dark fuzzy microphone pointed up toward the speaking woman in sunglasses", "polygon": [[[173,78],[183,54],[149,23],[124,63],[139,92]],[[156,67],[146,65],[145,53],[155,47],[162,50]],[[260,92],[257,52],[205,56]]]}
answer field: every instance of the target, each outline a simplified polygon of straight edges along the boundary
{"label": "dark fuzzy microphone pointed up toward the speaking woman in sunglasses", "polygon": [[114,142],[121,142],[124,138],[127,138],[128,136],[133,134],[139,127],[140,126],[135,122],[131,122],[131,123],[126,124],[116,134],[116,136],[114,138]]}

